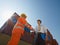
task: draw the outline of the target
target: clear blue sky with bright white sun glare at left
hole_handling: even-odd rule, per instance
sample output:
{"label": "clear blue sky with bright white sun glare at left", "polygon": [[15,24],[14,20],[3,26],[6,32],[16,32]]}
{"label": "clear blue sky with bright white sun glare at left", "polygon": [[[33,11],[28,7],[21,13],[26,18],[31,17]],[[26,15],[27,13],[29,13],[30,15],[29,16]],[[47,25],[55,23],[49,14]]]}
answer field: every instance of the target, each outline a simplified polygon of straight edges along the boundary
{"label": "clear blue sky with bright white sun glare at left", "polygon": [[41,19],[60,43],[60,0],[0,0],[0,27],[14,12],[26,13],[33,27],[37,25],[36,20]]}

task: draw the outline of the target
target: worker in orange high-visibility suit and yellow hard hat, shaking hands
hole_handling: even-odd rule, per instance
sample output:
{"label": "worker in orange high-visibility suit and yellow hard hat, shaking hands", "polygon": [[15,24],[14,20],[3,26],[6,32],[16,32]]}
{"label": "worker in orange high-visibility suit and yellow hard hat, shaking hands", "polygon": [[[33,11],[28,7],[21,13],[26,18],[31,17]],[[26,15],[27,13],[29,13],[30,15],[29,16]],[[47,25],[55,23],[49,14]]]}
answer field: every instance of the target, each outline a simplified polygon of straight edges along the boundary
{"label": "worker in orange high-visibility suit and yellow hard hat, shaking hands", "polygon": [[8,41],[7,45],[18,45],[21,36],[24,34],[24,27],[28,27],[33,29],[28,22],[26,21],[27,16],[25,14],[21,14],[20,18],[18,19],[17,23],[15,24],[12,30],[11,39]]}

